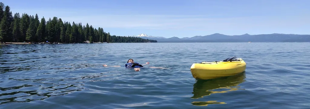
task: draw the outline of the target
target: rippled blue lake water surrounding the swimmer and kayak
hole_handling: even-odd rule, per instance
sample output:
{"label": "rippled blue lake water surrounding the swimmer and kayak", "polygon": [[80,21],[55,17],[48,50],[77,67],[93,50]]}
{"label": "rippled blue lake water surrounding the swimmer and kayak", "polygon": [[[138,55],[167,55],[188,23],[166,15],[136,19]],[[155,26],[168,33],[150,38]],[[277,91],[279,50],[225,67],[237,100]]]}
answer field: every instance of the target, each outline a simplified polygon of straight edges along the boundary
{"label": "rippled blue lake water surrounding the swimmer and kayak", "polygon": [[[0,45],[3,109],[306,109],[310,43]],[[196,80],[193,63],[237,56],[246,72]],[[141,71],[128,59],[149,62]],[[147,67],[165,67],[154,69]]]}

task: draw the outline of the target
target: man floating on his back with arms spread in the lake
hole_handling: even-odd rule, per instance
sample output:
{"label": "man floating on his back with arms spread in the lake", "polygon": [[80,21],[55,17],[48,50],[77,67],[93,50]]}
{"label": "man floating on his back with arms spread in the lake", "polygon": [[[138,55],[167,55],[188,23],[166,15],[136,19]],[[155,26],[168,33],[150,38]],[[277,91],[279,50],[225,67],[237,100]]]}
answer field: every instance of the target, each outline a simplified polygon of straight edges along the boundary
{"label": "man floating on his back with arms spread in the lake", "polygon": [[[128,59],[127,63],[125,64],[125,67],[134,68],[135,71],[140,71],[140,68],[146,64],[149,64],[149,62],[146,62],[145,64],[139,64],[139,63],[135,63],[133,59]],[[104,64],[103,66],[104,67],[121,67],[121,66],[108,66],[106,64]],[[149,68],[169,69],[169,68],[164,68],[164,67],[149,67]]]}

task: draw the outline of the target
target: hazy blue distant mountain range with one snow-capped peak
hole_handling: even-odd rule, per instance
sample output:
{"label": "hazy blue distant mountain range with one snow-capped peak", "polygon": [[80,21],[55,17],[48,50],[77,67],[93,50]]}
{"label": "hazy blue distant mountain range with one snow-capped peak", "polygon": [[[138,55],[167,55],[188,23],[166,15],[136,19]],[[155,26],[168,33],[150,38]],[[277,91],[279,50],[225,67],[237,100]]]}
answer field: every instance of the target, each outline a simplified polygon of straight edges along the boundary
{"label": "hazy blue distant mountain range with one snow-capped peak", "polygon": [[148,36],[147,34],[139,34],[137,36],[145,39],[157,40],[157,42],[310,42],[310,35],[305,34],[258,34],[258,35],[224,35],[224,34],[211,34],[206,36],[194,36],[191,38],[164,38]]}

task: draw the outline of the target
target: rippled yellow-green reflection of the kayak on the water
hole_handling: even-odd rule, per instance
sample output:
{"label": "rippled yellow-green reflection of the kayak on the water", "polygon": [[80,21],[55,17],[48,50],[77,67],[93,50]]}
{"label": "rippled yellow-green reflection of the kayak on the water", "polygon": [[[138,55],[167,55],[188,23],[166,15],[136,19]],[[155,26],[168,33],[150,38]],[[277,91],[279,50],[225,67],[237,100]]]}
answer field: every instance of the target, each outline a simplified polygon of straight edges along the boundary
{"label": "rippled yellow-green reflection of the kayak on the water", "polygon": [[[240,90],[238,86],[240,83],[244,82],[246,78],[245,72],[218,79],[211,80],[197,80],[193,85],[193,96],[192,99],[199,99],[205,96],[216,94],[216,93],[226,93],[229,91]],[[207,101],[207,102],[192,102],[195,106],[207,106],[208,104],[225,104],[224,102]]]}

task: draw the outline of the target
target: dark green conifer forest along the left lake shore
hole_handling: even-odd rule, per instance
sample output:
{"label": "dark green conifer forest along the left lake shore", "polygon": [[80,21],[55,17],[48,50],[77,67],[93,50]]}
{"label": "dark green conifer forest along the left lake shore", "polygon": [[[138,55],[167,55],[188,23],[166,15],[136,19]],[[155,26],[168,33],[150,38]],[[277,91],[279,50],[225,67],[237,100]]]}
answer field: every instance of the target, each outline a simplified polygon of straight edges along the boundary
{"label": "dark green conifer forest along the left lake shore", "polygon": [[63,22],[61,18],[53,17],[46,20],[44,16],[39,20],[26,13],[15,13],[14,17],[10,6],[0,2],[0,42],[31,42],[31,43],[83,43],[92,42],[157,42],[138,37],[116,36],[106,33],[103,28],[94,28],[81,22]]}

